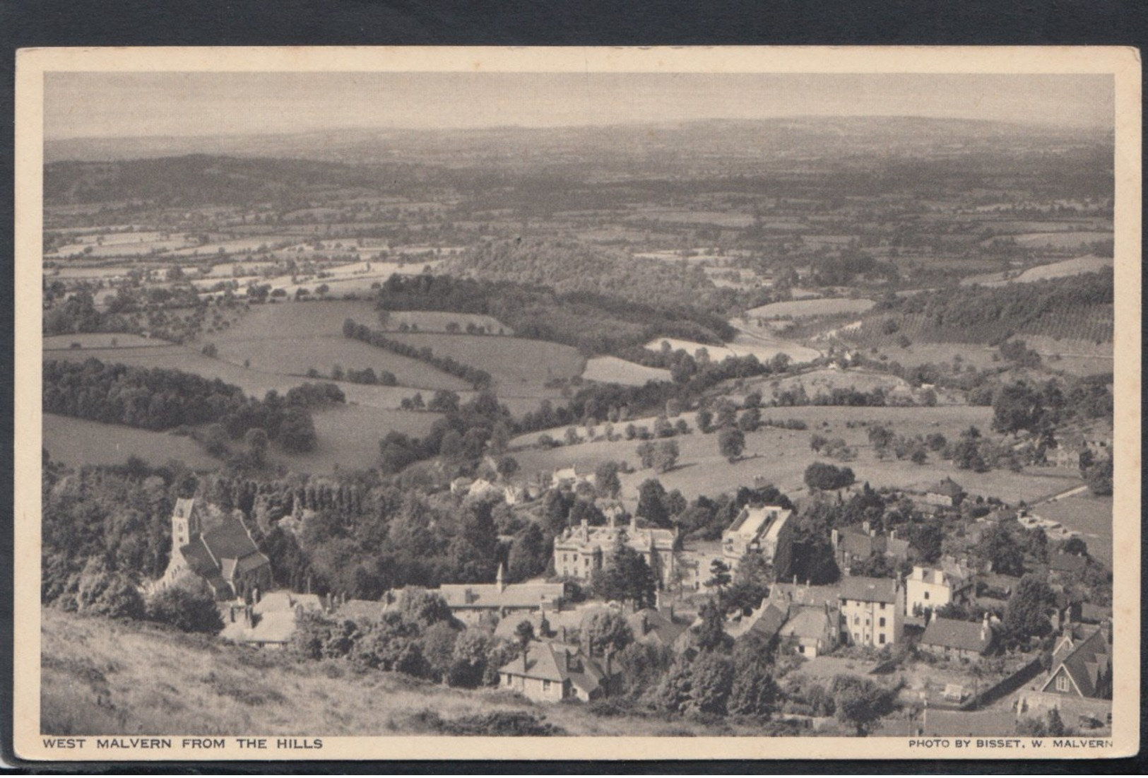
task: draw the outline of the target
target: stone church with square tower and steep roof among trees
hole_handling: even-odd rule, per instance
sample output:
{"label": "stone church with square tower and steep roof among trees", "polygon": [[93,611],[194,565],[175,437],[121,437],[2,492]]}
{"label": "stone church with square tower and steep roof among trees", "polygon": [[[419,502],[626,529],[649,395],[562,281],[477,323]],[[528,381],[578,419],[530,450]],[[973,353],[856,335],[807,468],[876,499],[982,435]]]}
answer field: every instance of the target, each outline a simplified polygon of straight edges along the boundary
{"label": "stone church with square tower and steep roof among trees", "polygon": [[170,586],[188,573],[207,582],[217,600],[258,599],[272,582],[271,560],[238,512],[209,512],[183,498],[171,514],[171,559],[154,588]]}

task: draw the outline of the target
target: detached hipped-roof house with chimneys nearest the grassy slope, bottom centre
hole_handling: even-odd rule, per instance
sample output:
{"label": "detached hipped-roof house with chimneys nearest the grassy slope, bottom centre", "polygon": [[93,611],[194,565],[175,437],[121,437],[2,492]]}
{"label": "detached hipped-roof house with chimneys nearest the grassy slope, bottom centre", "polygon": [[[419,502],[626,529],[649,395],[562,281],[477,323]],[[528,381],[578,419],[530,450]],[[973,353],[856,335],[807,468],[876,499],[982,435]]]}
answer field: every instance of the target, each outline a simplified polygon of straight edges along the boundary
{"label": "detached hipped-roof house with chimneys nearest the grassy slope, bottom centre", "polygon": [[498,668],[499,688],[535,702],[589,702],[606,692],[606,671],[577,646],[530,641],[521,656]]}

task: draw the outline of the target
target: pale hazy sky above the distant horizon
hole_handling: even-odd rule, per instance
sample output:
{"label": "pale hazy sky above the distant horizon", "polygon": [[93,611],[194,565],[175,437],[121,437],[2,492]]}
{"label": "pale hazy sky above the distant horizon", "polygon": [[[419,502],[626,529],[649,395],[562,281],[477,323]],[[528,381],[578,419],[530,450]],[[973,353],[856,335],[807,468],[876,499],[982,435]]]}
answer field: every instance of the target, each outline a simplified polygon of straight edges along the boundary
{"label": "pale hazy sky above the distant horizon", "polygon": [[54,72],[47,138],[895,115],[1108,127],[1111,76]]}

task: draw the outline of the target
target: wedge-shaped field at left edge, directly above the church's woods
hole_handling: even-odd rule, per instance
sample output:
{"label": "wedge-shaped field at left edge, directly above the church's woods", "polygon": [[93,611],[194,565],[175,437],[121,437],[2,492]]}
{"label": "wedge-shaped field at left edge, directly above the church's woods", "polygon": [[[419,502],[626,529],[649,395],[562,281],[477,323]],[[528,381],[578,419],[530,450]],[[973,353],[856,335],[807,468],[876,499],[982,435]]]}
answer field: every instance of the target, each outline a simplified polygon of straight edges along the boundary
{"label": "wedge-shaped field at left edge, directly above the church's woods", "polygon": [[193,469],[215,469],[219,466],[218,459],[186,436],[53,413],[44,414],[44,448],[53,461],[72,467],[123,465],[129,457],[139,457],[153,466],[172,459]]}

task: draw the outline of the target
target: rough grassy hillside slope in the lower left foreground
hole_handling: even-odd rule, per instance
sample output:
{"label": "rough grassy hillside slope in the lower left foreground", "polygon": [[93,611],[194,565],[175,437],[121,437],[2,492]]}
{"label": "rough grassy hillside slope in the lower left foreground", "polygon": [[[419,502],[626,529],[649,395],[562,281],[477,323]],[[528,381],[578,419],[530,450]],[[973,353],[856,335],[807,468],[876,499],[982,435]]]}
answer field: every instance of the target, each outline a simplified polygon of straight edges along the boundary
{"label": "rough grassy hillside slope in the lower left foreground", "polygon": [[498,690],[463,691],[344,661],[298,663],[137,622],[41,612],[45,734],[510,733],[491,714],[526,715],[554,734],[760,734],[667,716],[598,717],[584,706],[534,705]]}

